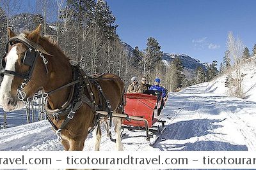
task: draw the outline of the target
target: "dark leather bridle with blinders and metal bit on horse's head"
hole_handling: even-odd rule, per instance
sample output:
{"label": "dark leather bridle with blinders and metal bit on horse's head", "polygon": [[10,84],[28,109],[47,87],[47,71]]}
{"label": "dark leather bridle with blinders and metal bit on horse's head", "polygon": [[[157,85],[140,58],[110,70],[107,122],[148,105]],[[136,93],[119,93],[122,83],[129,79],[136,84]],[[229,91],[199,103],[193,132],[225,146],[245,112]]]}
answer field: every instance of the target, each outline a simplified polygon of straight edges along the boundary
{"label": "dark leather bridle with blinders and metal bit on horse's head", "polygon": [[40,96],[33,96],[30,98],[30,97],[27,97],[26,92],[24,92],[23,89],[24,87],[26,87],[27,83],[31,80],[31,76],[33,74],[33,71],[36,65],[36,60],[39,56],[42,58],[45,66],[45,71],[48,74],[49,72],[47,67],[48,60],[45,58],[44,54],[46,55],[51,55],[51,54],[47,53],[42,46],[27,39],[24,36],[24,34],[21,34],[20,36],[15,36],[13,38],[10,38],[10,40],[8,41],[6,45],[6,52],[4,53],[2,62],[1,62],[1,66],[3,68],[5,68],[6,66],[6,55],[9,52],[9,49],[10,49],[9,47],[16,43],[22,43],[28,47],[28,50],[26,50],[24,57],[22,58],[22,63],[26,66],[29,66],[29,70],[26,73],[17,73],[16,71],[2,69],[0,71],[0,75],[4,76],[6,74],[13,74],[13,76],[19,76],[20,78],[24,79],[20,87],[17,89],[17,92],[18,92],[17,97],[20,101],[24,103],[26,107],[28,107],[29,101],[38,99],[38,97],[44,97],[44,98],[48,97],[48,94],[44,93]]}

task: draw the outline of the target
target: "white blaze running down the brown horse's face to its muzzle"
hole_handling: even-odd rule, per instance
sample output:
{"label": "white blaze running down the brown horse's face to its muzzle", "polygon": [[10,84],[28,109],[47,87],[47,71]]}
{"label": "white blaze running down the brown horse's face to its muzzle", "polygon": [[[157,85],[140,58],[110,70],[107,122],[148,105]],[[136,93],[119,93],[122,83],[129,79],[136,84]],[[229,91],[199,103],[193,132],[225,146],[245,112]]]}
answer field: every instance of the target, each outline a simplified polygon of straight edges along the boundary
{"label": "white blaze running down the brown horse's face to its muzzle", "polygon": [[[8,55],[6,56],[6,70],[15,71],[15,63],[19,59],[17,55],[17,46],[13,46]],[[12,91],[12,81],[14,75],[6,74],[4,75],[3,81],[0,87],[0,104],[3,106],[4,111],[13,111],[23,108],[23,103],[13,99],[11,96]]]}

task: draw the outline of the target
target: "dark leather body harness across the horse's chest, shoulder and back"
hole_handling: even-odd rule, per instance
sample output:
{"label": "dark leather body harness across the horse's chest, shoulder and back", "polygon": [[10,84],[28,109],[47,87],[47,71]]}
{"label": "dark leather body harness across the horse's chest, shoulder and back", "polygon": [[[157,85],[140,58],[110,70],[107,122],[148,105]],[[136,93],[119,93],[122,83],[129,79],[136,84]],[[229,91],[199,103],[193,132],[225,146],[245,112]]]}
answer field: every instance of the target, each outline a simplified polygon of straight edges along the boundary
{"label": "dark leather body harness across the horse's chest, shoulder and back", "polygon": [[[70,96],[72,99],[68,99],[70,101],[70,104],[66,104],[65,108],[61,107],[60,109],[57,109],[55,111],[51,111],[47,106],[47,104],[45,105],[45,108],[46,108],[45,113],[47,115],[47,120],[49,120],[50,124],[56,131],[59,141],[62,140],[61,131],[65,129],[68,122],[70,122],[70,120],[72,120],[72,118],[76,114],[76,111],[79,110],[81,106],[83,106],[83,103],[90,106],[90,108],[92,108],[92,111],[94,113],[93,127],[92,129],[90,129],[90,131],[88,131],[88,133],[92,132],[93,129],[95,129],[97,124],[99,124],[99,120],[101,117],[109,117],[110,118],[109,125],[110,126],[112,125],[113,110],[111,108],[111,104],[109,100],[104,95],[104,92],[101,89],[97,80],[89,76],[86,76],[84,71],[77,66],[74,67],[73,73],[74,73],[73,74],[74,79],[77,79],[77,80],[73,79],[73,81],[68,83],[67,85],[63,85],[58,89],[51,90],[50,92],[48,92],[48,94],[52,94],[60,89],[72,86],[74,88],[74,94]],[[101,74],[100,76],[102,75],[103,74]],[[108,80],[111,80],[111,79],[108,79]],[[95,89],[97,89],[99,94],[98,103],[96,103],[95,101],[95,94],[93,94],[93,86],[96,87]],[[86,94],[88,94],[90,98],[86,96]],[[105,101],[105,105],[103,104],[102,99]],[[108,112],[108,115],[100,115],[99,113],[97,113],[97,111],[99,110],[106,110]],[[56,127],[56,125],[52,122],[51,117],[56,118],[58,121],[60,116],[65,116],[65,115],[67,115],[67,117],[65,118],[64,122],[60,125],[60,128]]]}

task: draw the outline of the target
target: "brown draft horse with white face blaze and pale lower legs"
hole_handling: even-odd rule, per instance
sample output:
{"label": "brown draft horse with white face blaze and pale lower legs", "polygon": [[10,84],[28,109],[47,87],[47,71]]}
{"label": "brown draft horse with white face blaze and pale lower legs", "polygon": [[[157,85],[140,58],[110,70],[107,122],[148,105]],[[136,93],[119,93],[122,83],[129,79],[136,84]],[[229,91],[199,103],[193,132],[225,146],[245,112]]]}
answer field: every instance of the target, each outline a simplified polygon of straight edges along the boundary
{"label": "brown draft horse with white face blaze and pale lower legs", "polygon": [[[41,57],[37,57],[35,68],[33,70],[31,80],[24,87],[26,96],[31,97],[39,89],[43,89],[45,92],[57,89],[62,85],[65,85],[72,81],[72,66],[68,58],[61,51],[61,49],[52,43],[49,38],[40,36],[39,25],[32,32],[24,32],[23,35],[44,48],[44,50],[51,54],[45,55],[45,58],[49,61],[47,64],[48,73],[45,71],[44,62]],[[9,38],[13,38],[16,34],[8,28]],[[24,53],[28,50],[28,47],[24,43],[14,43],[10,46],[10,50],[5,57],[6,70],[14,71],[15,73],[26,73],[29,70],[29,66],[26,66],[22,62]],[[113,113],[120,113],[118,106],[122,103],[124,83],[115,74],[104,74],[102,78],[105,80],[99,80],[106,98],[109,99],[110,104],[113,108]],[[107,80],[113,79],[113,80]],[[0,104],[3,106],[4,111],[19,110],[24,107],[22,101],[17,97],[17,89],[20,87],[24,79],[13,74],[4,74],[3,81],[0,87]],[[47,104],[51,110],[60,108],[63,103],[68,99],[71,87],[65,87],[64,89],[58,90],[47,97]],[[96,104],[99,103],[98,90],[93,87],[93,94],[95,95]],[[97,97],[98,96],[98,97]],[[95,117],[92,108],[88,104],[83,103],[81,108],[76,111],[74,118],[68,122],[65,129],[61,132],[62,144],[65,150],[83,150],[84,140],[88,135],[88,129],[93,127],[93,118]],[[50,117],[53,124],[60,128],[60,125],[65,120],[65,117],[60,117],[59,120]],[[120,138],[121,118],[113,117],[116,132],[116,148],[122,150],[122,143]],[[95,150],[99,150],[101,132],[100,127],[97,125],[94,131],[95,135]]]}

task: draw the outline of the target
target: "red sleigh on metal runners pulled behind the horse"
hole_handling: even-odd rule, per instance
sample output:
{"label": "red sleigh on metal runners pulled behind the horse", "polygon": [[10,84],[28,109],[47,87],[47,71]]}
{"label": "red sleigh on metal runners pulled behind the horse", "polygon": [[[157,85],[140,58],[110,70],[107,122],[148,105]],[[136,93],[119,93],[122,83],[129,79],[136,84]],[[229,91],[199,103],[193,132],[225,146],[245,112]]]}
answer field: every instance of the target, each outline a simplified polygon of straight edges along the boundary
{"label": "red sleigh on metal runners pulled behind the horse", "polygon": [[[154,145],[158,135],[164,131],[165,121],[160,120],[164,106],[162,93],[146,90],[144,94],[126,94],[124,111],[130,120],[123,120],[122,128],[129,130],[142,130],[147,132],[147,140]],[[160,125],[156,125],[159,124]],[[153,139],[152,139],[153,138]]]}

